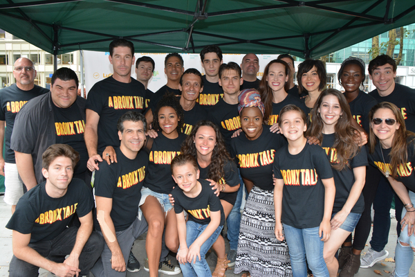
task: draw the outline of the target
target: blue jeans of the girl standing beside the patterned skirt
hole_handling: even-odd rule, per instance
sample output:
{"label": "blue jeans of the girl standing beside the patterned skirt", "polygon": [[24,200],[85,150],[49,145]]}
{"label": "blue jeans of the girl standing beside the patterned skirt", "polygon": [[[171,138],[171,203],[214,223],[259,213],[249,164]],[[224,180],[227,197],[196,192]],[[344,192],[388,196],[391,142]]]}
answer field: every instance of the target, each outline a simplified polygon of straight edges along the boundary
{"label": "blue jeans of the girl standing beside the patterned skirt", "polygon": [[297,229],[283,224],[294,277],[306,277],[307,265],[315,277],[329,277],[323,258],[324,242],[318,235],[319,227]]}

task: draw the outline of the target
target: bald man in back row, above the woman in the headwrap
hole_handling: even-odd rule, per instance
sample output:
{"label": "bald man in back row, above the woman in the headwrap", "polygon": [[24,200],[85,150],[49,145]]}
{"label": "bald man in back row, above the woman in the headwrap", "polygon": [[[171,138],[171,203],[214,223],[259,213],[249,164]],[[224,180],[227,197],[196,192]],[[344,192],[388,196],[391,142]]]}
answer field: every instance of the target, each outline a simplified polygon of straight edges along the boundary
{"label": "bald man in back row, above the woman in the headwrap", "polygon": [[260,80],[257,78],[259,71],[259,59],[254,53],[243,56],[241,62],[242,79],[241,90],[243,89],[259,89]]}

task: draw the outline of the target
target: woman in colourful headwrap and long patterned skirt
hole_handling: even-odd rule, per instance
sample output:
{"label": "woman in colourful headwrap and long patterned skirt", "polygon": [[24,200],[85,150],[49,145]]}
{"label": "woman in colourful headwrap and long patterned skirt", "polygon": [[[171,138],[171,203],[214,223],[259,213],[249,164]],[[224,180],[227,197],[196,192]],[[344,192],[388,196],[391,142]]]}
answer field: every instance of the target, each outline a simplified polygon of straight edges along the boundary
{"label": "woman in colourful headwrap and long patterned skirt", "polygon": [[234,273],[293,276],[287,244],[274,234],[273,159],[284,139],[263,125],[264,103],[255,89],[241,91],[238,110],[243,134],[232,139],[231,151],[249,196],[241,216]]}

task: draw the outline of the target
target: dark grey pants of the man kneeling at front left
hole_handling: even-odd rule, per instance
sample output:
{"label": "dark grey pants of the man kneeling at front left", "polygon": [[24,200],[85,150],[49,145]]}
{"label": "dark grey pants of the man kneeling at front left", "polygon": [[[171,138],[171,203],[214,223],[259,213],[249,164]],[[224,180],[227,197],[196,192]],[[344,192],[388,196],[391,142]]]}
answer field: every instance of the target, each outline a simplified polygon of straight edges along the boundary
{"label": "dark grey pants of the man kneeling at front left", "polygon": [[[53,240],[30,243],[28,246],[48,260],[62,263],[64,262],[66,255],[71,253],[73,246],[75,245],[77,230],[77,227],[71,227],[65,229]],[[104,239],[102,236],[98,235],[96,232],[92,232],[84,245],[84,249],[82,249],[79,258],[79,267],[81,269],[80,275],[89,275],[89,270],[93,267],[96,260],[100,258],[103,248]],[[37,277],[39,276],[39,267],[13,256],[10,261],[9,273],[11,277]]]}

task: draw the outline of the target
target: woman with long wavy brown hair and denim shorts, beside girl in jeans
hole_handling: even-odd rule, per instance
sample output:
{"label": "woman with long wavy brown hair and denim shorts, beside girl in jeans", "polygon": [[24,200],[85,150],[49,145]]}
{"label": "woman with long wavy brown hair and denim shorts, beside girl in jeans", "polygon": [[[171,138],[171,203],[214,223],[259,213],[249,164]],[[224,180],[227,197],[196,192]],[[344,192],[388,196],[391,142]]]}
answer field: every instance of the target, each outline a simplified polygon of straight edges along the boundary
{"label": "woman with long wavy brown hair and denim shorts, beside girl in jeans", "polygon": [[[336,89],[322,91],[311,111],[313,121],[307,136],[320,141],[331,163],[335,181],[335,201],[331,214],[330,238],[324,242],[324,261],[329,274],[337,276],[339,263],[335,253],[355,229],[364,209],[367,156],[355,143],[360,138],[344,95]],[[360,255],[351,256],[354,260]]]}

